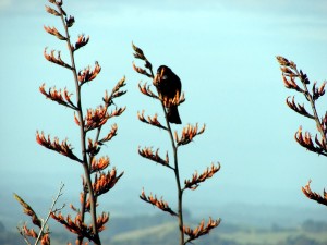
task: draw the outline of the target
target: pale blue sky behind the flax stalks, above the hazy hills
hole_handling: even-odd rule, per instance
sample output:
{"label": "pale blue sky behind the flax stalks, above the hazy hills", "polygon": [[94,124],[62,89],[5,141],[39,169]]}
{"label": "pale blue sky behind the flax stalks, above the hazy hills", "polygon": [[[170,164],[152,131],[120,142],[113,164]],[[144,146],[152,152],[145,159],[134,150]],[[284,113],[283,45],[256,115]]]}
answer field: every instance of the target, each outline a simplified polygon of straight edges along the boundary
{"label": "pale blue sky behind the flax stalks, above the hazy hills", "polygon": [[[60,181],[66,184],[68,194],[80,189],[80,166],[35,143],[39,130],[68,137],[78,149],[71,111],[38,91],[43,83],[73,90],[70,72],[43,57],[44,48],[49,47],[69,58],[64,44],[43,29],[44,25],[61,29],[59,20],[45,12],[45,4],[47,1],[0,1],[1,199],[16,192],[44,201],[50,199]],[[128,110],[112,121],[119,125],[119,135],[104,149],[112,166],[125,175],[108,198],[137,201],[143,186],[170,203],[174,198],[171,174],[136,151],[141,145],[160,147],[165,152],[169,145],[165,132],[136,119],[142,109],[146,114],[162,114],[155,100],[137,90],[137,83],[145,77],[132,70],[134,41],[155,68],[167,64],[180,76],[186,97],[180,107],[183,123],[207,125],[204,135],[180,150],[183,179],[211,161],[222,166],[214,180],[187,194],[189,203],[193,197],[208,198],[213,204],[322,208],[300,188],[308,179],[316,192],[327,187],[327,161],[293,140],[299,125],[314,130],[314,123],[287,108],[284,99],[293,93],[283,87],[275,56],[295,61],[312,82],[326,79],[327,4],[323,0],[81,0],[66,1],[64,7],[76,20],[73,39],[81,33],[90,36],[89,44],[76,54],[77,66],[95,61],[102,66],[98,78],[85,86],[84,108],[101,103],[104,90],[126,76],[128,94],[118,105]],[[295,98],[304,101],[300,95]],[[320,113],[326,110],[326,98],[320,99]]]}

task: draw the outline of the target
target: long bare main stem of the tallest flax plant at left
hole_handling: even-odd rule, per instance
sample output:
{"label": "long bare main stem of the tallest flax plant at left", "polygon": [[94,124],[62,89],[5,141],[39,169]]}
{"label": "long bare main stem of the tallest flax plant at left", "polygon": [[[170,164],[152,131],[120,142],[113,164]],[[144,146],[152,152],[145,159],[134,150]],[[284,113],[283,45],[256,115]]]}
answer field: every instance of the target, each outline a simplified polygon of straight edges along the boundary
{"label": "long bare main stem of the tallest flax plant at left", "polygon": [[[81,135],[81,146],[82,146],[82,156],[83,156],[83,169],[84,169],[84,175],[86,180],[86,185],[87,185],[87,192],[89,193],[89,203],[90,203],[90,217],[92,217],[92,223],[93,223],[93,233],[94,233],[94,242],[97,245],[100,245],[100,238],[98,234],[98,229],[97,229],[97,215],[96,215],[96,198],[93,192],[93,186],[92,186],[92,179],[90,179],[90,171],[88,167],[88,160],[87,160],[87,154],[86,154],[86,132],[84,128],[84,120],[83,120],[83,109],[82,109],[82,100],[81,100],[81,86],[78,84],[78,78],[77,78],[77,72],[76,72],[76,65],[75,65],[75,59],[74,59],[74,52],[72,50],[72,45],[70,40],[70,34],[69,34],[69,27],[64,21],[63,17],[63,12],[60,5],[58,5],[58,9],[60,11],[60,17],[64,27],[65,36],[66,36],[66,44],[68,44],[68,49],[70,52],[70,58],[71,58],[71,66],[72,66],[72,72],[74,76],[74,82],[75,82],[75,88],[76,88],[76,102],[77,102],[77,115],[78,120],[81,122],[80,126],[80,135]],[[85,204],[87,199],[87,192],[84,191],[84,203],[82,205],[82,222],[84,222],[85,218]],[[78,237],[80,242],[82,242],[82,237]]]}

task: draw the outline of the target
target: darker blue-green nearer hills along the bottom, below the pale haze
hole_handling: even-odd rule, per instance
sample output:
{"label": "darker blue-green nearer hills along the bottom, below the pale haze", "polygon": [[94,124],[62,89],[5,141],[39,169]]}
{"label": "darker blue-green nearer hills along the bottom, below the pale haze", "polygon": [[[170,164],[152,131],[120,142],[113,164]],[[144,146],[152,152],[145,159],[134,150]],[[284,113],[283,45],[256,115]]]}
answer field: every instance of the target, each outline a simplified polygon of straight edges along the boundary
{"label": "darker blue-green nearer hills along the bottom, below the pale haze", "polygon": [[[198,221],[191,217],[189,224],[195,226]],[[1,229],[2,228],[2,229]],[[110,245],[177,245],[178,230],[172,217],[136,216],[112,218],[106,231],[101,233],[102,244]],[[63,228],[51,234],[51,245],[74,242],[75,236]],[[15,231],[8,231],[0,222],[1,245],[23,245],[23,238]],[[295,226],[272,224],[270,228],[253,226],[240,223],[222,222],[209,235],[201,237],[194,244],[204,245],[326,245],[327,221],[307,220]]]}

